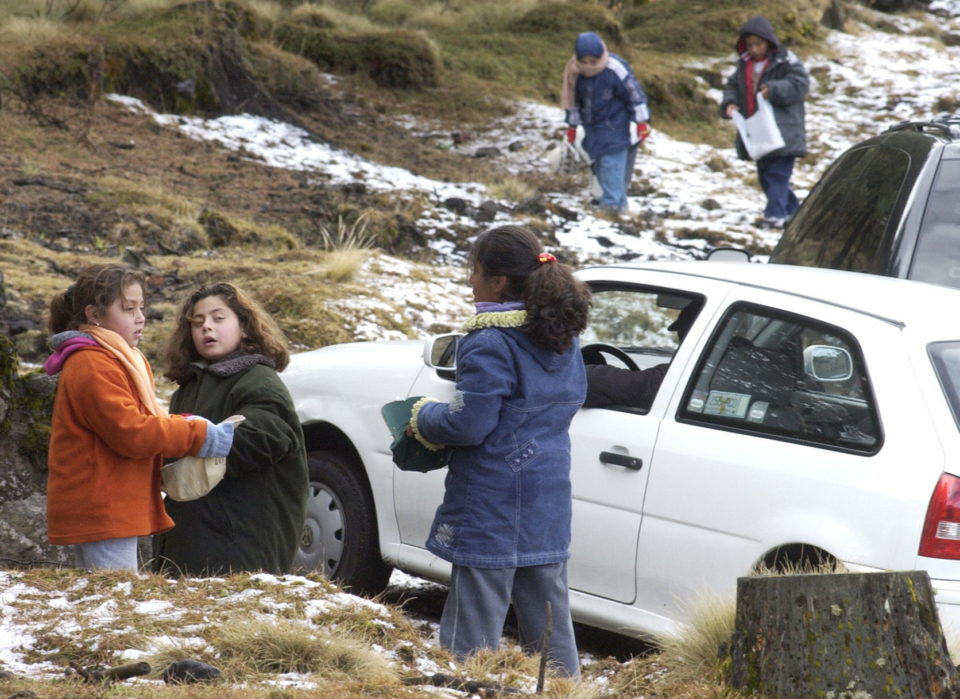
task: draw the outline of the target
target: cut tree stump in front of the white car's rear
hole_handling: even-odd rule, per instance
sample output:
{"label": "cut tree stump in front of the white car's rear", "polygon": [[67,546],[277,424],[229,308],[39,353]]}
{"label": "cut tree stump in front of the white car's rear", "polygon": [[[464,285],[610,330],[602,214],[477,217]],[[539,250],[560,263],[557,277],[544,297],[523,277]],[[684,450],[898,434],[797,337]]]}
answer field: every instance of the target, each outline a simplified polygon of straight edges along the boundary
{"label": "cut tree stump in front of the white car's rear", "polygon": [[765,697],[956,697],[925,571],[737,580],[731,684]]}

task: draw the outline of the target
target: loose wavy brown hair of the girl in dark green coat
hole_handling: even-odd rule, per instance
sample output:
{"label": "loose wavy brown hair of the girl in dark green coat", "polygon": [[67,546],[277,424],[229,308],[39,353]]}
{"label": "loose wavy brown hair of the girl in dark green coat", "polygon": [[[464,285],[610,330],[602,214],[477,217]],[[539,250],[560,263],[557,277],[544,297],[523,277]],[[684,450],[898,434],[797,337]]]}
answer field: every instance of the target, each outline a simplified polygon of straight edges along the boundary
{"label": "loose wavy brown hair of the girl in dark green coat", "polygon": [[193,307],[209,296],[220,296],[240,320],[244,338],[240,341],[240,351],[246,354],[262,354],[273,360],[274,368],[283,371],[290,363],[287,338],[283,331],[252,296],[239,287],[227,282],[217,282],[202,286],[194,291],[183,305],[177,316],[177,327],[167,343],[165,360],[168,379],[181,383],[190,376],[190,365],[201,359],[193,342],[190,321]]}

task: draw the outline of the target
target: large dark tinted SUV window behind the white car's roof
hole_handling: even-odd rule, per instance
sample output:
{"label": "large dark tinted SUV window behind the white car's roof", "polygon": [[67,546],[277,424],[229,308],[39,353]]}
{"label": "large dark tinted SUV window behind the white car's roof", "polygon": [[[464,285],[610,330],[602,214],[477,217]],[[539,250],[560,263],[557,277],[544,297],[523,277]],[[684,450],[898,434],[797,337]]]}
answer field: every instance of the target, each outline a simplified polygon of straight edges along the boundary
{"label": "large dark tinted SUV window behind the white car's roof", "polygon": [[909,170],[910,156],[899,148],[846,153],[797,211],[771,261],[886,273],[884,236]]}

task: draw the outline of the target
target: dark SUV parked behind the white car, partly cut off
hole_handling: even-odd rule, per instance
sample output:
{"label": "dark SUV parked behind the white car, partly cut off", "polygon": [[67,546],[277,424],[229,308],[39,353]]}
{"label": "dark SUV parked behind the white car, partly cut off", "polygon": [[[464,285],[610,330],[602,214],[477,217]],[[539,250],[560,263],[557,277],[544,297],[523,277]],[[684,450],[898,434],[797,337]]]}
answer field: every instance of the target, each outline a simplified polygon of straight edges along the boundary
{"label": "dark SUV parked behind the white car, partly cut off", "polygon": [[770,261],[960,287],[960,116],[903,122],[846,151]]}

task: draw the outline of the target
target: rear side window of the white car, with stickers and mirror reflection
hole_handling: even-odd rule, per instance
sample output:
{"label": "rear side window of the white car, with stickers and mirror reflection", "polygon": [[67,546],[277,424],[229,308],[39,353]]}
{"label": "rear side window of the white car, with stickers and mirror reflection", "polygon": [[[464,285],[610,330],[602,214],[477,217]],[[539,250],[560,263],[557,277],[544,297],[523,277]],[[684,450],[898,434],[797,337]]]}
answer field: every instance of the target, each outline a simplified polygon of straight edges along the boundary
{"label": "rear side window of the white car, with stickers and mirror reflection", "polygon": [[879,420],[859,348],[812,318],[740,304],[718,326],[678,419],[873,453]]}

